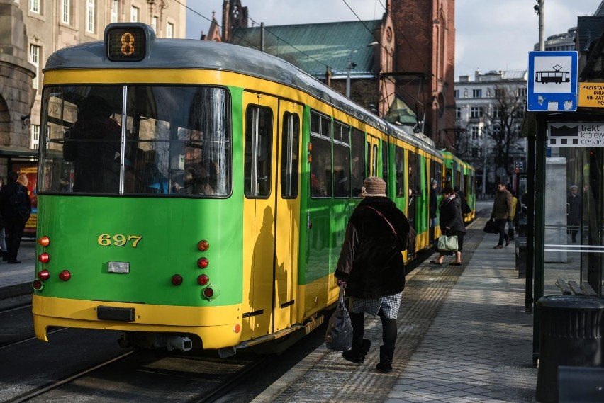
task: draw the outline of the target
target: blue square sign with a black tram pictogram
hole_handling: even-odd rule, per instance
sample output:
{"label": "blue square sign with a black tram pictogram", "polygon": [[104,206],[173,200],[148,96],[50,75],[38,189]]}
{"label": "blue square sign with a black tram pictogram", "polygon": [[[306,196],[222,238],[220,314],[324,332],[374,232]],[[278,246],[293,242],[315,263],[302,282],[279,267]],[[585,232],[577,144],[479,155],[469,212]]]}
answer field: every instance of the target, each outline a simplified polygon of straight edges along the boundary
{"label": "blue square sign with a black tram pictogram", "polygon": [[577,110],[578,52],[529,52],[527,110]]}

